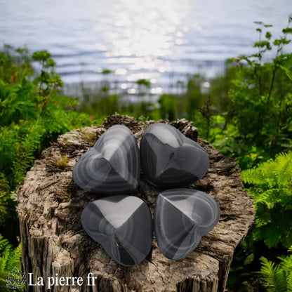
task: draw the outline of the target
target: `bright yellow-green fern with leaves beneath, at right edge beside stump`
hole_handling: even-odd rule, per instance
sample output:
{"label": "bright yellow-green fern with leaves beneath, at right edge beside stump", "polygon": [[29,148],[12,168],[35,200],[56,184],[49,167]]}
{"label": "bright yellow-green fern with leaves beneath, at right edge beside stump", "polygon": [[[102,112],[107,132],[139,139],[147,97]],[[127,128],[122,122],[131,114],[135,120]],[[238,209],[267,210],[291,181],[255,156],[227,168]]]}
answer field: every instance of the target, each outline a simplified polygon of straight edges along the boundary
{"label": "bright yellow-green fern with leaves beneath, at right edge beside stump", "polygon": [[256,218],[253,237],[268,247],[279,242],[292,245],[292,152],[277,155],[256,168],[242,171],[254,199]]}

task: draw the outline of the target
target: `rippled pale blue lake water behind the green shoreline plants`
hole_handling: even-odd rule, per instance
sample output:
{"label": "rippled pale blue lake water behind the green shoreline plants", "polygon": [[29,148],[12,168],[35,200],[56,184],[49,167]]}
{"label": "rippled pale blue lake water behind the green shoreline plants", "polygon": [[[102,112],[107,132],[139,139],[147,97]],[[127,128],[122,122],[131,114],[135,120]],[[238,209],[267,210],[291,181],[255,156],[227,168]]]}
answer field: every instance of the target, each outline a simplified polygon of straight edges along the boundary
{"label": "rippled pale blue lake water behind the green shoreline plants", "polygon": [[110,78],[135,94],[149,79],[157,94],[253,53],[253,21],[279,36],[289,13],[291,0],[0,0],[0,45],[50,51],[65,84]]}

